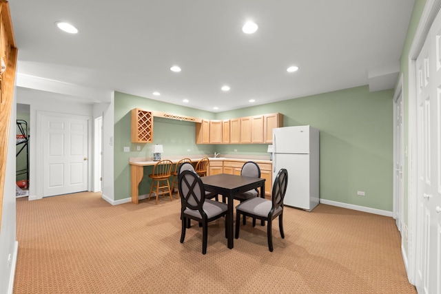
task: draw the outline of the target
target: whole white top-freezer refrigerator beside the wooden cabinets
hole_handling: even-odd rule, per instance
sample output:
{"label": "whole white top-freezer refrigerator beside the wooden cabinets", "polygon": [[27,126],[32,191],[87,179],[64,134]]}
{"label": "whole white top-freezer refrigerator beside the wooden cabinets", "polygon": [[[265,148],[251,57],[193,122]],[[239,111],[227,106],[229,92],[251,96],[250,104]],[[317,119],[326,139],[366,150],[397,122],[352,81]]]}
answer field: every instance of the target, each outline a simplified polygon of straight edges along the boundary
{"label": "whole white top-freezer refrigerator beside the wooden cabinets", "polygon": [[309,125],[273,129],[273,179],[288,171],[283,204],[311,211],[318,204],[319,132]]}

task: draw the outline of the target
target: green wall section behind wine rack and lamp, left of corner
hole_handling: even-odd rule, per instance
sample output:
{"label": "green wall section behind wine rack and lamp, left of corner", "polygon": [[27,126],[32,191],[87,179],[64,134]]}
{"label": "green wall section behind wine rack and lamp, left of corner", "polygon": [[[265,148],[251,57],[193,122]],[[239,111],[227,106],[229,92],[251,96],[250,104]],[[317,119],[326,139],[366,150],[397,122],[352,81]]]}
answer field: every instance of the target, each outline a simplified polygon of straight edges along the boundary
{"label": "green wall section behind wine rack and lamp, left of corner", "polygon": [[[152,146],[162,144],[163,157],[172,155],[212,154],[212,145],[196,145],[195,124],[187,121],[154,118],[153,143],[131,142],[131,114],[134,108],[214,119],[212,112],[189,107],[181,107],[148,98],[115,92],[114,109],[114,200],[130,198],[130,157],[152,157]],[[141,151],[136,151],[140,146]],[[124,152],[123,147],[130,147],[130,152]],[[190,149],[190,151],[187,151]],[[139,185],[139,195],[150,191],[150,174],[152,167],[144,167],[144,178]]]}

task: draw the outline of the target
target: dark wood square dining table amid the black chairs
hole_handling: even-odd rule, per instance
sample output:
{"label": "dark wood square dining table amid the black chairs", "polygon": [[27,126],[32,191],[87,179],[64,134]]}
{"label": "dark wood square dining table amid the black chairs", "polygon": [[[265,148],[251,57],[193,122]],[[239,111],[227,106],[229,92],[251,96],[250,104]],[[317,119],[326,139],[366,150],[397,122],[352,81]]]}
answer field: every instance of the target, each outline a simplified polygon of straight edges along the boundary
{"label": "dark wood square dining table amid the black chairs", "polygon": [[260,197],[265,198],[265,179],[247,176],[236,176],[232,174],[216,174],[201,178],[205,191],[217,193],[227,198],[227,226],[228,248],[232,249],[233,244],[233,200],[234,196],[260,187]]}

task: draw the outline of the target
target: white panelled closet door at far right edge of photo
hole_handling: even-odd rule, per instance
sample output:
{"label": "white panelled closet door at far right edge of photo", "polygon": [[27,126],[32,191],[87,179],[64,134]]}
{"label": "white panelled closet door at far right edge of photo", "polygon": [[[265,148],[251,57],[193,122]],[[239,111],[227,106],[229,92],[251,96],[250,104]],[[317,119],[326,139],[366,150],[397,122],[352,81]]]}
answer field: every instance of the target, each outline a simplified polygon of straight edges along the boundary
{"label": "white panelled closet door at far right edge of photo", "polygon": [[441,14],[416,61],[418,293],[441,293]]}

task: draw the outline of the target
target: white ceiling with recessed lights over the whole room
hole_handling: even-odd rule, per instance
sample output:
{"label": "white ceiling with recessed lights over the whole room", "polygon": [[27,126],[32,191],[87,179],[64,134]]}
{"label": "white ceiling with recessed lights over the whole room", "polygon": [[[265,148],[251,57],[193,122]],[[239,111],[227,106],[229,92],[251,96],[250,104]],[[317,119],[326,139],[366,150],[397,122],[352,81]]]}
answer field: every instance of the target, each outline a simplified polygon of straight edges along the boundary
{"label": "white ceiling with recessed lights over the whole room", "polygon": [[[94,103],[119,91],[222,112],[360,85],[391,89],[413,2],[12,0],[17,95]],[[255,34],[241,30],[249,19]],[[289,65],[300,70],[287,73]]]}

